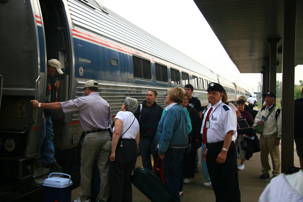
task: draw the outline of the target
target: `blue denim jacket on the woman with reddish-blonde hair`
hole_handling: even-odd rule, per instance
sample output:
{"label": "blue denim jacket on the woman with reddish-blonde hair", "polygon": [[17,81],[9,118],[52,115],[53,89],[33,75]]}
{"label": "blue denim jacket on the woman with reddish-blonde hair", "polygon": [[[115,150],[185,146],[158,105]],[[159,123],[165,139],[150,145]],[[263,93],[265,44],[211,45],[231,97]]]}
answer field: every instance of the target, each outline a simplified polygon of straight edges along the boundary
{"label": "blue denim jacket on the woman with reddish-blonde hair", "polygon": [[169,108],[161,118],[155,142],[159,143],[159,154],[165,154],[168,147],[185,148],[188,145],[188,122],[181,104]]}

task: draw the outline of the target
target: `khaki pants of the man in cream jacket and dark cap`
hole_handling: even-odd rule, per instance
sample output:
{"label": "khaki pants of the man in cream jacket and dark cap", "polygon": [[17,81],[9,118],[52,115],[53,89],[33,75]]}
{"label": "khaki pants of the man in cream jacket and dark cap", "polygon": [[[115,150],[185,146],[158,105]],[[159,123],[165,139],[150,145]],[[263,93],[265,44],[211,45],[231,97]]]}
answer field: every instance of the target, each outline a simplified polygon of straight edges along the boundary
{"label": "khaki pants of the man in cream jacket and dark cap", "polygon": [[260,156],[262,164],[262,173],[268,174],[271,170],[268,162],[268,154],[270,154],[272,162],[272,174],[278,175],[281,172],[281,158],[279,145],[275,146],[275,140],[277,139],[277,134],[273,134],[269,137],[264,137],[260,135]]}

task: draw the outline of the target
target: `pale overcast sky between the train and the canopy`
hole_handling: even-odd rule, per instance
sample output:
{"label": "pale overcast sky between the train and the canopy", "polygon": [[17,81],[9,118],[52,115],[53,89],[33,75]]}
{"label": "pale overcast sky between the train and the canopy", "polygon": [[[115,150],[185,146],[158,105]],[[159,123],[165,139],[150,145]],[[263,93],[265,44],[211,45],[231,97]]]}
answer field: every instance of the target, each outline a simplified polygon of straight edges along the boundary
{"label": "pale overcast sky between the train and the canopy", "polygon": [[[193,0],[98,0],[151,35],[249,92],[258,90],[260,74],[241,74]],[[282,75],[277,74],[282,80]],[[295,84],[303,65],[295,68]]]}

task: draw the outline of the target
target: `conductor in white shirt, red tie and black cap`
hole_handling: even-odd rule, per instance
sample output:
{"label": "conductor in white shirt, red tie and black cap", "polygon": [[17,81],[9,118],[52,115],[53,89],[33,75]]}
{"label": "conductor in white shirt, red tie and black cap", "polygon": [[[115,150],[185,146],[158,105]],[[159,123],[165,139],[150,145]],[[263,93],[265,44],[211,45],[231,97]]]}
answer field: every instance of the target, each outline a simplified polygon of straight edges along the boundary
{"label": "conductor in white shirt, red tie and black cap", "polygon": [[[240,201],[237,169],[236,112],[222,103],[223,87],[218,83],[208,84],[208,101],[211,107],[205,112],[201,133],[203,160],[207,163],[216,201]],[[206,150],[207,149],[207,150]]]}

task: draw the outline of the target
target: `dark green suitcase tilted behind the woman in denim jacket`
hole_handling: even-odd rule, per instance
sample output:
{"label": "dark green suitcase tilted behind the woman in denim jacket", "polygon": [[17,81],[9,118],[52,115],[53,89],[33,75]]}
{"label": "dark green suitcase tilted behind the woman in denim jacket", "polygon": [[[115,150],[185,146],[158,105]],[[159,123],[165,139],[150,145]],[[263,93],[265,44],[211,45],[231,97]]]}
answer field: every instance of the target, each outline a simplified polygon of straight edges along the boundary
{"label": "dark green suitcase tilted behind the woman in denim jacket", "polygon": [[137,167],[132,176],[132,184],[151,201],[171,201],[166,185],[148,169]]}

